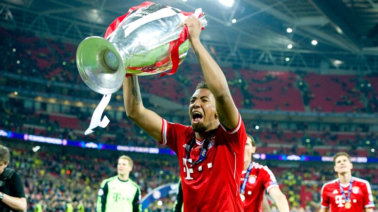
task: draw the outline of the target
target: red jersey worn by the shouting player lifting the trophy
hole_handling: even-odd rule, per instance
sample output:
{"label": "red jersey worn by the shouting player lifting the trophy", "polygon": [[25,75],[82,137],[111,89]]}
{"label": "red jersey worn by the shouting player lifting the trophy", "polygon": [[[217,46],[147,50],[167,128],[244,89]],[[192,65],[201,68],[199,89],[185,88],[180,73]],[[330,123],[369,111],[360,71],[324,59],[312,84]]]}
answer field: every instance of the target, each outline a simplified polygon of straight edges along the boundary
{"label": "red jersey worn by the shouting player lifting the trophy", "polygon": [[[247,134],[239,115],[231,132],[220,126],[209,138],[206,158],[197,164],[187,162],[187,145],[194,138],[191,126],[163,119],[161,143],[177,155],[184,194],[184,212],[242,212],[240,175],[243,170]],[[206,139],[205,139],[206,140]],[[199,158],[204,141],[195,139],[189,161]]]}

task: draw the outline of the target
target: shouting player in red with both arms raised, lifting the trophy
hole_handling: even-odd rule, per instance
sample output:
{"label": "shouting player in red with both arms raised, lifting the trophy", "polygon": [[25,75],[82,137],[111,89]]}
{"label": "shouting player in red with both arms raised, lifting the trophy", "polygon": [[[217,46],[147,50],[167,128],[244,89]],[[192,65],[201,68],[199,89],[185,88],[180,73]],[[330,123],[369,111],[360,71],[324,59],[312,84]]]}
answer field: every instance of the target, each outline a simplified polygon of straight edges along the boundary
{"label": "shouting player in red with both arms raised, lifting the trophy", "polygon": [[199,40],[200,22],[191,17],[185,25],[206,81],[190,98],[191,126],[169,123],[146,109],[136,76],[124,81],[126,114],[177,154],[184,212],[242,212],[239,180],[247,140],[244,123],[221,68]]}

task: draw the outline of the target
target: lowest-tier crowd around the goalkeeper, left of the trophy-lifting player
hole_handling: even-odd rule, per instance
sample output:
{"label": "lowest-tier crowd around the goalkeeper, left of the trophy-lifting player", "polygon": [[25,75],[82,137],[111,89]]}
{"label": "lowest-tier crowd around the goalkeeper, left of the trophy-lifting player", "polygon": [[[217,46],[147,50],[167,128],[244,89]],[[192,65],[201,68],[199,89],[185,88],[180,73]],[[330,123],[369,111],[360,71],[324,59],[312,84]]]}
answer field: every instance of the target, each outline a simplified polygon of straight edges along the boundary
{"label": "lowest-tier crowd around the goalkeeper, left of the trophy-lifting player", "polygon": [[[24,180],[28,211],[40,204],[44,212],[65,212],[67,203],[74,207],[82,203],[86,212],[94,212],[101,181],[117,175],[118,157],[109,157],[106,153],[75,155],[69,150],[53,149],[42,147],[36,153],[12,149],[10,167]],[[178,182],[176,159],[134,161],[130,177],[140,185],[142,196],[159,185]]]}

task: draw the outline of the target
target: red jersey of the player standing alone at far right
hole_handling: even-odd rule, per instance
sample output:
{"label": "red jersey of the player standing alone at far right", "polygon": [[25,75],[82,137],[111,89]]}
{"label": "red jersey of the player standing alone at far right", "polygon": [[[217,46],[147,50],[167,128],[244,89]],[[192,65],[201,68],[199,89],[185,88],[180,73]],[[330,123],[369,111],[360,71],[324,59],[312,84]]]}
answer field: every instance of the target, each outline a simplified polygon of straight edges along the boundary
{"label": "red jersey of the player standing alone at far right", "polygon": [[[343,185],[346,197],[348,197],[349,184]],[[339,179],[335,179],[323,185],[321,188],[321,207],[330,208],[330,212],[363,212],[365,208],[373,208],[373,195],[369,182],[353,177],[350,194],[350,209],[345,207],[345,198],[340,191]]]}

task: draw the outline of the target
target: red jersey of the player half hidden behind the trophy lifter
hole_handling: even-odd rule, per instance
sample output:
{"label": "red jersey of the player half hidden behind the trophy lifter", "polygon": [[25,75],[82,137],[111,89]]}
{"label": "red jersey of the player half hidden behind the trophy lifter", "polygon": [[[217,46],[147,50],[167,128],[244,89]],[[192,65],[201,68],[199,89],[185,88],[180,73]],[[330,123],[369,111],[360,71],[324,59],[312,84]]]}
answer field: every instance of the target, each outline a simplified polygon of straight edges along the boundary
{"label": "red jersey of the player half hidden behind the trophy lifter", "polygon": [[[240,186],[243,185],[247,170],[243,170]],[[252,169],[248,177],[243,201],[244,212],[262,212],[262,198],[272,187],[279,187],[273,172],[259,163],[252,162]]]}

